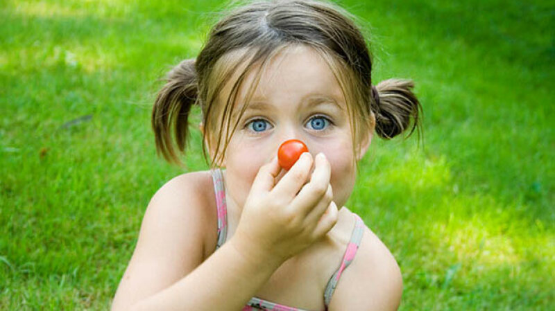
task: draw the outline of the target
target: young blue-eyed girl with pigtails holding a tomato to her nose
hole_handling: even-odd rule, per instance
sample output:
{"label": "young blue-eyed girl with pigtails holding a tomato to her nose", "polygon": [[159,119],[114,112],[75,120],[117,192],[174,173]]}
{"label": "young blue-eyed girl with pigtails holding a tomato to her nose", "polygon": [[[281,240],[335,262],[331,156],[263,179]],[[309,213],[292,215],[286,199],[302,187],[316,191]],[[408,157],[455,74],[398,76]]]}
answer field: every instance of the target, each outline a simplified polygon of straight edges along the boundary
{"label": "young blue-eyed girl with pigtails holding a tomato to her nose", "polygon": [[[157,150],[179,162],[200,105],[212,170],[153,196],[112,310],[396,310],[400,269],[343,204],[373,132],[412,120],[412,133],[421,107],[411,81],[374,87],[371,68],[330,3],[250,3],[219,21],[152,116]],[[309,149],[289,171],[276,157],[287,139]]]}

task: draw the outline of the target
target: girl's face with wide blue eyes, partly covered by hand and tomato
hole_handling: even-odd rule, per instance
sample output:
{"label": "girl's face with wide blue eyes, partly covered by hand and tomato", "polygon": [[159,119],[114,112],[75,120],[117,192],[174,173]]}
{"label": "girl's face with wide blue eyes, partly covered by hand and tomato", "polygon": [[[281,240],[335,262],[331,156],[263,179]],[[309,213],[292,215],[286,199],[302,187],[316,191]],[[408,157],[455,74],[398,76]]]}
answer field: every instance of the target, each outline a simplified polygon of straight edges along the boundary
{"label": "girl's face with wide blue eyes, partly covered by hand and tomato", "polygon": [[[246,77],[234,113],[240,111],[253,78],[254,73]],[[229,89],[223,90],[222,98],[227,98]],[[313,157],[325,154],[332,167],[334,202],[341,208],[356,179],[347,105],[330,67],[307,46],[286,48],[271,60],[230,140],[222,166],[228,195],[239,208],[259,168],[275,157],[287,139],[305,142]],[[368,135],[357,159],[370,139]],[[278,179],[284,174],[282,170]]]}

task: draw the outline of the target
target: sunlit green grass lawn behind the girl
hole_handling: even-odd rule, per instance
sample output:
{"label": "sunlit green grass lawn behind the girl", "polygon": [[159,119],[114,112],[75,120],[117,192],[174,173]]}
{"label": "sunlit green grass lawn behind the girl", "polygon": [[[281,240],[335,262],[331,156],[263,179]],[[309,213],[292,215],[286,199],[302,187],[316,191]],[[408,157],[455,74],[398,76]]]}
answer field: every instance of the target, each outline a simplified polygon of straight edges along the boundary
{"label": "sunlit green grass lawn behind the girl", "polygon": [[[458,2],[342,2],[369,22],[375,82],[413,78],[425,112],[420,148],[375,139],[347,206],[397,258],[400,310],[550,310],[555,9]],[[108,308],[149,199],[183,172],[155,155],[157,79],[219,8],[0,4],[1,310]]]}

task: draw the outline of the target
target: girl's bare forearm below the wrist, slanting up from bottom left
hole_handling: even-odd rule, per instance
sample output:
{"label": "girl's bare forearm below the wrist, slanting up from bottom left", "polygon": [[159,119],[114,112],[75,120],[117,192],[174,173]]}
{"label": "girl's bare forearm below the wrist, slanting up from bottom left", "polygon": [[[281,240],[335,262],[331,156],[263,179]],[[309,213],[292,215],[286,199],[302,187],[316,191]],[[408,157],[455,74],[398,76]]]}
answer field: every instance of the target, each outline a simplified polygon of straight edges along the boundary
{"label": "girl's bare forearm below the wrist, slanting up from bottom left", "polygon": [[131,310],[241,310],[280,262],[260,254],[247,258],[233,239],[202,265]]}

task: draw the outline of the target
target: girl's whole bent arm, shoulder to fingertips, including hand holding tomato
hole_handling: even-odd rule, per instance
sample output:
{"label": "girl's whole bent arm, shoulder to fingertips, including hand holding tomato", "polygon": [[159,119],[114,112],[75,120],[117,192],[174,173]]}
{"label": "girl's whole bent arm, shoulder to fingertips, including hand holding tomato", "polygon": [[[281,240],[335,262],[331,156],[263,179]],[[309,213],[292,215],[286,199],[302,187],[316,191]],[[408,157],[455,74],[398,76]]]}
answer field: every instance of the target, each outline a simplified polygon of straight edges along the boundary
{"label": "girl's whole bent arm, shoulder to fingertips, including hand holding tomato", "polygon": [[212,185],[199,173],[164,185],[147,208],[112,311],[244,308],[285,260],[337,222],[330,163],[322,155],[305,184],[312,158],[304,154],[275,187],[277,157],[260,168],[233,237],[204,262],[206,230],[215,223],[202,198]]}

